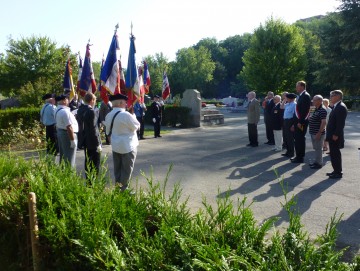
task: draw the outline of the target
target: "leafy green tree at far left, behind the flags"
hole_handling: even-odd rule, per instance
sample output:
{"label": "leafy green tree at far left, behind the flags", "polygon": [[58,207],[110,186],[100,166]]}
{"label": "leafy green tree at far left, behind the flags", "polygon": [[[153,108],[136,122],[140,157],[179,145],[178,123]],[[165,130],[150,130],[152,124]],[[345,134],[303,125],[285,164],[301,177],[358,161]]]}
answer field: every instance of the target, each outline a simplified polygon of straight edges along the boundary
{"label": "leafy green tree at far left, behind the flags", "polygon": [[[42,84],[62,92],[65,63],[70,54],[68,46],[57,48],[47,37],[32,36],[19,41],[10,39],[8,47],[0,69],[0,91],[4,95],[18,95],[21,87],[34,85],[40,78]],[[76,63],[75,56],[71,57],[72,63]]]}

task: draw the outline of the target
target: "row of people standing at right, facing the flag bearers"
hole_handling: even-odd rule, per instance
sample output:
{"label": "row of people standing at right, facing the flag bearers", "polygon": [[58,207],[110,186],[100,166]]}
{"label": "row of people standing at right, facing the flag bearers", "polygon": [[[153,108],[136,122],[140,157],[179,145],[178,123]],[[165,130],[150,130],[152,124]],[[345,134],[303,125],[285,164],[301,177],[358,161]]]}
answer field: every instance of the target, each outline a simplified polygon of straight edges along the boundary
{"label": "row of people standing at right, facing the flag bearers", "polygon": [[[323,166],[323,151],[329,146],[333,172],[327,173],[332,179],[342,178],[342,159],[340,149],[344,147],[344,127],[347,117],[346,105],[342,102],[341,90],[330,92],[329,100],[321,95],[312,99],[306,91],[306,83],[296,83],[296,92],[274,95],[268,92],[262,107],[264,108],[264,122],[266,127],[265,144],[274,145],[274,151],[286,150],[283,156],[289,157],[292,163],[304,163],[306,134],[309,134],[315,155],[309,163],[311,169]],[[260,120],[260,104],[256,93],[248,93],[248,134],[249,147],[257,147],[257,125]],[[314,112],[310,112],[311,104]]]}

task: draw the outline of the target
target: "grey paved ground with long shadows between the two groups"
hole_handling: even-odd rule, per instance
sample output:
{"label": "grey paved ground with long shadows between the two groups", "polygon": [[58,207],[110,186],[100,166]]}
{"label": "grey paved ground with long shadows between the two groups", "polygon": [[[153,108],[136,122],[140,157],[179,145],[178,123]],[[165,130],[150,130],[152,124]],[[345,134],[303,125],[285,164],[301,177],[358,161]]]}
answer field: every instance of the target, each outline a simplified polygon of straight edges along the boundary
{"label": "grey paved ground with long shadows between the two groups", "polygon": [[[218,198],[228,191],[231,199],[247,198],[254,203],[251,209],[256,219],[278,216],[277,226],[282,229],[288,218],[281,208],[284,196],[279,180],[284,181],[289,195],[297,198],[297,208],[302,214],[306,230],[315,236],[325,232],[326,224],[337,212],[343,214],[338,226],[339,246],[350,246],[351,253],[360,253],[360,113],[349,113],[346,124],[346,143],[343,149],[341,180],[328,179],[331,172],[329,157],[320,170],[310,169],[307,164],[292,164],[272,146],[264,145],[265,127],[259,125],[258,148],[248,148],[245,113],[225,112],[222,126],[174,130],[161,139],[148,138],[140,142],[133,177],[138,185],[146,187],[140,172],[151,174],[163,182],[169,165],[173,170],[168,180],[170,192],[175,183],[180,183],[184,198],[189,197],[189,207],[202,207],[202,197],[215,205]],[[109,169],[112,168],[111,147],[105,146]],[[305,161],[311,158],[309,138]],[[83,153],[78,152],[78,169],[83,169]],[[133,183],[133,185],[135,185]]]}

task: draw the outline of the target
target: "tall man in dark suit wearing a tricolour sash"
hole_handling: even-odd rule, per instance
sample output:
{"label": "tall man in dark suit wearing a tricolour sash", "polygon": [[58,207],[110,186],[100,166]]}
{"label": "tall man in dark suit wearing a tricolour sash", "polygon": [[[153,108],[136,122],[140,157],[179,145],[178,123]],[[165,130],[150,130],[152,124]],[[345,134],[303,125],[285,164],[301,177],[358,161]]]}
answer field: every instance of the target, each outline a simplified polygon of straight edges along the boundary
{"label": "tall man in dark suit wearing a tricolour sash", "polygon": [[309,125],[311,97],[310,94],[306,91],[306,83],[304,81],[299,81],[296,83],[296,92],[299,95],[295,107],[295,123],[293,128],[296,156],[291,158],[291,162],[304,163],[306,148],[305,136]]}

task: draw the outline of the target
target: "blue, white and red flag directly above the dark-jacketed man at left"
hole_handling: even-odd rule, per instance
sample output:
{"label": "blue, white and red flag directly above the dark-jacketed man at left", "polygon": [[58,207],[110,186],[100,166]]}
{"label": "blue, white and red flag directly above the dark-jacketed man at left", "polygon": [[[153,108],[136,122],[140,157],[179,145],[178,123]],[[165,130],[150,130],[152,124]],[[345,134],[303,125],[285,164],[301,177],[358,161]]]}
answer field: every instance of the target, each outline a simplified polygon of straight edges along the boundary
{"label": "blue, white and red flag directly above the dark-jacketed man at left", "polygon": [[81,96],[85,96],[87,92],[96,92],[96,82],[94,76],[94,70],[92,68],[91,63],[91,55],[90,55],[90,44],[86,45],[86,54],[84,58],[84,66],[81,72],[80,78],[80,94]]}

